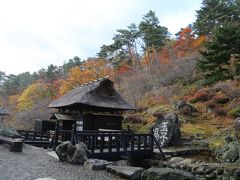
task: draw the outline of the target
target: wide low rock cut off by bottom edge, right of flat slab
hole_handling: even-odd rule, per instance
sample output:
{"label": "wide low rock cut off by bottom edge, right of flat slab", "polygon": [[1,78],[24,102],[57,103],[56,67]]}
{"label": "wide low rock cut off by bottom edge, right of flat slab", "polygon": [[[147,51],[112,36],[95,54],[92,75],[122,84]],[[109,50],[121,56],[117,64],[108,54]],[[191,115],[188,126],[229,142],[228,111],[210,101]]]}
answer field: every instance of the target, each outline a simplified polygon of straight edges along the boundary
{"label": "wide low rock cut off by bottom edge, right of flat slab", "polygon": [[142,173],[142,180],[195,180],[197,179],[191,173],[170,168],[156,168],[152,167]]}

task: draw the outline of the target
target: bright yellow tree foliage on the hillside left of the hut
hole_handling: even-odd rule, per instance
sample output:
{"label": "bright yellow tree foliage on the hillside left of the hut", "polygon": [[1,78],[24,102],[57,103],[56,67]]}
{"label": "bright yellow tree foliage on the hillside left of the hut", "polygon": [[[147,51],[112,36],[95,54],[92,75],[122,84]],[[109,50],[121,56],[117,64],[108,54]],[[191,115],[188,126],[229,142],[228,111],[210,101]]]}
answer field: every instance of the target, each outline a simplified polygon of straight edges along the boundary
{"label": "bright yellow tree foliage on the hillside left of the hut", "polygon": [[37,82],[25,89],[18,98],[17,109],[19,111],[31,108],[38,99],[47,97],[47,85]]}

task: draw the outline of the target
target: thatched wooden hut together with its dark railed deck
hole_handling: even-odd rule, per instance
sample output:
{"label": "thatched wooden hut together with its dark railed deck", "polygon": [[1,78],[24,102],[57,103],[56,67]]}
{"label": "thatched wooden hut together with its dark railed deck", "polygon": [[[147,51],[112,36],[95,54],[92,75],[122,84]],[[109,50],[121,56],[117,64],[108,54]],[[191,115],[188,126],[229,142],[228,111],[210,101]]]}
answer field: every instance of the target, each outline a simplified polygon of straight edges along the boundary
{"label": "thatched wooden hut together with its dark railed deck", "polygon": [[[109,79],[102,78],[79,86],[48,107],[58,109],[58,113],[51,117],[56,122],[54,136],[45,137],[42,132],[45,127],[43,122],[39,122],[41,133],[23,132],[25,142],[42,147],[47,144],[53,148],[59,140],[71,140],[72,144],[83,142],[90,151],[90,157],[98,159],[152,158],[155,157],[153,144],[156,143],[160,156],[164,156],[152,133],[121,131],[122,112],[135,110],[135,107],[122,98]],[[33,134],[31,139],[30,134]]]}

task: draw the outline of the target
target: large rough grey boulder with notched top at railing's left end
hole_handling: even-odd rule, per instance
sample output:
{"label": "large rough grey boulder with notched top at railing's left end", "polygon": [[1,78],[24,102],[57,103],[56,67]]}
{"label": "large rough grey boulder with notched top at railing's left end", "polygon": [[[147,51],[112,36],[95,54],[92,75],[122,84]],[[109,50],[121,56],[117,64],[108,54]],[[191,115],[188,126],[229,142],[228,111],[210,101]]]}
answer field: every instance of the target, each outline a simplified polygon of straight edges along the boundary
{"label": "large rough grey boulder with notched top at railing's left end", "polygon": [[65,141],[58,145],[55,151],[60,161],[71,164],[82,165],[89,158],[89,151],[82,142],[74,146],[70,141]]}

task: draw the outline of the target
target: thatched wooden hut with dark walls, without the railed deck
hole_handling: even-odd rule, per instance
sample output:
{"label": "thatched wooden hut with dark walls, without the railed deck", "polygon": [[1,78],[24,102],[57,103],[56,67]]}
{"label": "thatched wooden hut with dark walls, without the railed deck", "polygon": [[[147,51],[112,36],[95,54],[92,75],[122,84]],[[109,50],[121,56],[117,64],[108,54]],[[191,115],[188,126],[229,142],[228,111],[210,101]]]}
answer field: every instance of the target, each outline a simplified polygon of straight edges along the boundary
{"label": "thatched wooden hut with dark walls, without the railed deck", "polygon": [[[59,130],[122,130],[122,112],[135,110],[135,107],[122,98],[114,89],[114,83],[101,78],[83,84],[48,105],[57,108],[55,118]],[[65,135],[63,140],[70,138]]]}

